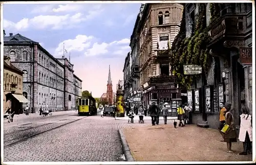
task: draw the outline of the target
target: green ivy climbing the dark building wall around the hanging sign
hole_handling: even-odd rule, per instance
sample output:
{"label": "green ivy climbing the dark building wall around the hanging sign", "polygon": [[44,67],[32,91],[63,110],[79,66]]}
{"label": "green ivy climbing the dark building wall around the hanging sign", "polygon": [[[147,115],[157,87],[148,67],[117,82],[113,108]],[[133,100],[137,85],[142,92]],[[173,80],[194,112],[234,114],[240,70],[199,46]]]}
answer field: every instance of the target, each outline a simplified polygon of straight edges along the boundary
{"label": "green ivy climbing the dark building wall around the hanging sign", "polygon": [[199,75],[184,75],[183,65],[201,65],[206,73],[211,60],[209,50],[206,48],[210,37],[208,31],[203,27],[203,22],[206,19],[205,12],[203,8],[197,16],[195,33],[191,37],[186,37],[185,10],[183,10],[180,32],[175,37],[170,55],[171,71],[176,76],[177,83],[188,90],[191,89],[191,85],[194,80],[199,78]]}

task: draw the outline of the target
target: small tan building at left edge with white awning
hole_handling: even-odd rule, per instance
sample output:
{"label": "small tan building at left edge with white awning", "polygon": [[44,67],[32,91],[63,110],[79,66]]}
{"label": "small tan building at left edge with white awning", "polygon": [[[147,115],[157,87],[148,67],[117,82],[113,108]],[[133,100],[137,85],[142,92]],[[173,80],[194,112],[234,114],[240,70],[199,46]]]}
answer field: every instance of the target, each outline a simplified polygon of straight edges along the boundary
{"label": "small tan building at left edge with white awning", "polygon": [[[4,113],[10,107],[15,114],[22,113],[23,103],[28,103],[26,93],[23,93],[23,72],[10,62],[10,57],[4,56]],[[24,95],[24,96],[23,96]]]}

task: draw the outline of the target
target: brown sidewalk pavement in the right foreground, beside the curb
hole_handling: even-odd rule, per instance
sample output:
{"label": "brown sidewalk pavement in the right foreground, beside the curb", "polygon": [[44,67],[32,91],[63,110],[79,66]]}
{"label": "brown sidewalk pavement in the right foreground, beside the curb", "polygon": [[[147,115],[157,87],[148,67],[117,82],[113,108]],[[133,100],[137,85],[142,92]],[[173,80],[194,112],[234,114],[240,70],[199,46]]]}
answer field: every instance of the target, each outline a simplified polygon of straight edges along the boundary
{"label": "brown sidewalk pavement in the right foreground, beside the curb", "polygon": [[234,153],[226,152],[218,130],[196,125],[172,124],[123,128],[135,161],[252,161],[252,155],[238,155],[241,142],[232,143]]}

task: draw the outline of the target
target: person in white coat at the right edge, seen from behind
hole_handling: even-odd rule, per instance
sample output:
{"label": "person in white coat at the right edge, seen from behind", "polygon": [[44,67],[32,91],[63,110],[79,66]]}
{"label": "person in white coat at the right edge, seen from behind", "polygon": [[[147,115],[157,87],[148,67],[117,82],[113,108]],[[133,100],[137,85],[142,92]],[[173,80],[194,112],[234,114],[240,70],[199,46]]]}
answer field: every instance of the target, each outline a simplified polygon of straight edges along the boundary
{"label": "person in white coat at the right edge, seen from behind", "polygon": [[239,155],[247,155],[252,153],[252,117],[249,114],[249,108],[247,106],[242,107],[241,111],[239,140],[243,142],[244,151],[239,153]]}

